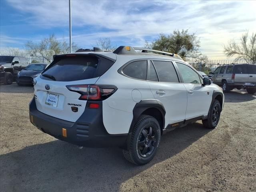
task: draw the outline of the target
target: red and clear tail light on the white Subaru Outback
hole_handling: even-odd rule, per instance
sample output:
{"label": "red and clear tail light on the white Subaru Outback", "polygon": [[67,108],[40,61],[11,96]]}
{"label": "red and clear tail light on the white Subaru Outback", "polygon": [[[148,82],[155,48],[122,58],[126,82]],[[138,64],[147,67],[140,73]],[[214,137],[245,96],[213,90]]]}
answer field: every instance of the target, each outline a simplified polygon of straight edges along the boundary
{"label": "red and clear tail light on the white Subaru Outback", "polygon": [[81,94],[80,100],[105,100],[117,87],[114,85],[67,85],[68,90]]}

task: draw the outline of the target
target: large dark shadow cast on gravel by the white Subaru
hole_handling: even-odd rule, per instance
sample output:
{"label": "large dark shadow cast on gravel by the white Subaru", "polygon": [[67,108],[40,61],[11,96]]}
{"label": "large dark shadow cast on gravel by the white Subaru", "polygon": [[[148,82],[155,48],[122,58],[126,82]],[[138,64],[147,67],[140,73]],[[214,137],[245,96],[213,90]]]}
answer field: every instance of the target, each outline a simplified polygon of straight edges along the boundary
{"label": "large dark shadow cast on gravel by the white Subaru", "polygon": [[154,159],[136,166],[120,148],[82,148],[55,140],[0,156],[2,191],[119,191],[123,182],[180,153],[210,132],[201,123],[162,136]]}

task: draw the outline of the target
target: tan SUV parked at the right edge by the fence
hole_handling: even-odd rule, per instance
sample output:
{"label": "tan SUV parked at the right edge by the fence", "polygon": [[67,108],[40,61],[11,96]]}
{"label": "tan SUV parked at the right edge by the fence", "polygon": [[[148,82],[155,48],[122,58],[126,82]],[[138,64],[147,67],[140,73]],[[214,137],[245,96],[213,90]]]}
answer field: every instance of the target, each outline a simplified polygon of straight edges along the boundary
{"label": "tan SUV parked at the right edge by the fence", "polygon": [[219,66],[211,73],[213,82],[222,86],[224,92],[244,88],[248,93],[256,92],[256,65],[229,64]]}

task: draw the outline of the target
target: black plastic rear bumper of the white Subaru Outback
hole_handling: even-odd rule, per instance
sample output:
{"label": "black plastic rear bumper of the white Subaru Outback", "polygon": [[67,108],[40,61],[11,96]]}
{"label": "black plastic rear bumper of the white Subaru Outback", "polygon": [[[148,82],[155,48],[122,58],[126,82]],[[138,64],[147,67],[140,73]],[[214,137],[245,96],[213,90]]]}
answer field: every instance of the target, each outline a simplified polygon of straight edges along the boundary
{"label": "black plastic rear bumper of the white Subaru Outback", "polygon": [[[102,102],[98,103],[99,109],[90,109],[86,106],[84,113],[76,122],[69,122],[38,111],[33,98],[29,104],[30,122],[42,132],[78,146],[124,146],[128,134],[108,134],[102,120]],[[63,136],[63,129],[66,129],[66,137]]]}

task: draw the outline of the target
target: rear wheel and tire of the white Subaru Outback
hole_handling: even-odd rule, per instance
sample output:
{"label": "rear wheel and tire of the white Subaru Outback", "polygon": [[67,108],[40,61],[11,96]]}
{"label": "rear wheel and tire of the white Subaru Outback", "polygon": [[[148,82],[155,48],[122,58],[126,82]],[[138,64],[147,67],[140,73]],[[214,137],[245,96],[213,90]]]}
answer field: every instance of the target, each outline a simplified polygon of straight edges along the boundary
{"label": "rear wheel and tire of the white Subaru Outback", "polygon": [[127,150],[123,150],[123,155],[133,164],[147,164],[156,155],[160,138],[161,129],[156,118],[142,115],[127,140]]}

